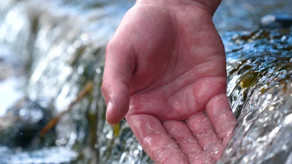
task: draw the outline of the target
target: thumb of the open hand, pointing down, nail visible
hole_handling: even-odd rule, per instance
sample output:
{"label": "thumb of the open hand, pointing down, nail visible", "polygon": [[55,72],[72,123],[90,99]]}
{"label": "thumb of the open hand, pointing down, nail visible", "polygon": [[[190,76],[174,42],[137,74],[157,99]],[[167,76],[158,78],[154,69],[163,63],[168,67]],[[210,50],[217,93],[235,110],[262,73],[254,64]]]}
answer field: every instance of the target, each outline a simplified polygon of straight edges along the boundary
{"label": "thumb of the open hand, pointing down, nail visible", "polygon": [[119,36],[113,37],[106,49],[102,93],[107,105],[106,120],[113,126],[129,109],[129,83],[135,67],[133,49]]}

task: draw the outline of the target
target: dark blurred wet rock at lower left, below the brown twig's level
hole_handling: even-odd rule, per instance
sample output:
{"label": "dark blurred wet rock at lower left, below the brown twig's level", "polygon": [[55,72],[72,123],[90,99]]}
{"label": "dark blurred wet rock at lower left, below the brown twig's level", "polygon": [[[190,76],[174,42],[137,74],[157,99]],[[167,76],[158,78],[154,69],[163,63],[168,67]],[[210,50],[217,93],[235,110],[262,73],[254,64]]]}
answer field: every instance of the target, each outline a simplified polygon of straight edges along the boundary
{"label": "dark blurred wet rock at lower left, below the brown twig's level", "polygon": [[50,112],[36,102],[27,98],[19,100],[0,117],[0,145],[24,148],[54,145],[54,128],[45,138],[38,135],[51,118]]}

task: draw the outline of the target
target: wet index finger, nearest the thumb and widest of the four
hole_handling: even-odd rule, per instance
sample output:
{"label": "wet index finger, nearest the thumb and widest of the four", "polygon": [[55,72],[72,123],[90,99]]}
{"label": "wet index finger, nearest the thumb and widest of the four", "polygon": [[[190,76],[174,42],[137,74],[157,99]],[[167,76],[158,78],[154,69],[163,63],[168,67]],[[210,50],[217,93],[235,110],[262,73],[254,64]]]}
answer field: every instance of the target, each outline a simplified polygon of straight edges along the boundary
{"label": "wet index finger, nearest the thumb and widest of the four", "polygon": [[137,114],[126,116],[138,141],[157,164],[189,164],[178,144],[168,135],[154,116]]}

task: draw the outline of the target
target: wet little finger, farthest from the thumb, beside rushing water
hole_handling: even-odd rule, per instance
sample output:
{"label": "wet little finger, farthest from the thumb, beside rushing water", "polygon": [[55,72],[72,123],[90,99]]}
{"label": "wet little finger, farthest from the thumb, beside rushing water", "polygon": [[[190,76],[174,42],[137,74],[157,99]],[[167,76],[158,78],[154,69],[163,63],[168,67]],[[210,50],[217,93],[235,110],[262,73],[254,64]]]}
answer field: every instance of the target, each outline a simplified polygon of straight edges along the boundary
{"label": "wet little finger, farthest from the thumb, beside rushing water", "polygon": [[213,97],[206,105],[206,114],[226,146],[232,137],[233,129],[237,124],[237,120],[232,113],[227,95],[225,93]]}

